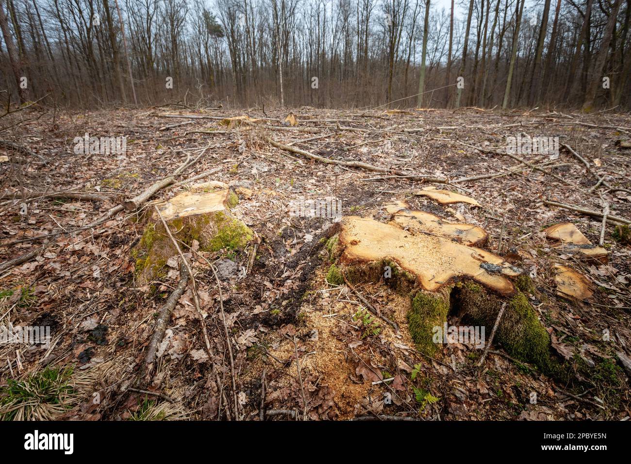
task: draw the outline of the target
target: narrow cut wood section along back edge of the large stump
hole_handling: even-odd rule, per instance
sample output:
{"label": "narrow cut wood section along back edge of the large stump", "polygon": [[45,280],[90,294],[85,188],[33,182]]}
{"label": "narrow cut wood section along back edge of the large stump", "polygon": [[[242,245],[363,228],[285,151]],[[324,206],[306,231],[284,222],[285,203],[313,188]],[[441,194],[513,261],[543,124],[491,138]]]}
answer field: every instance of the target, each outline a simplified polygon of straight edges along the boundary
{"label": "narrow cut wood section along back edge of the large stump", "polygon": [[437,235],[445,239],[455,240],[466,246],[482,246],[488,239],[487,232],[477,225],[449,222],[432,213],[410,210],[408,205],[403,202],[387,206],[386,210],[392,213],[391,223],[402,229]]}

